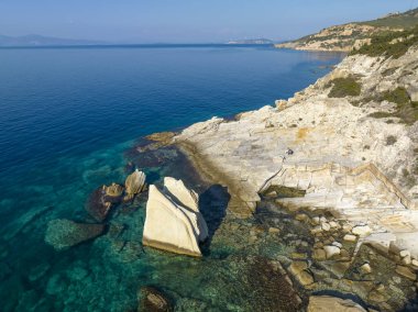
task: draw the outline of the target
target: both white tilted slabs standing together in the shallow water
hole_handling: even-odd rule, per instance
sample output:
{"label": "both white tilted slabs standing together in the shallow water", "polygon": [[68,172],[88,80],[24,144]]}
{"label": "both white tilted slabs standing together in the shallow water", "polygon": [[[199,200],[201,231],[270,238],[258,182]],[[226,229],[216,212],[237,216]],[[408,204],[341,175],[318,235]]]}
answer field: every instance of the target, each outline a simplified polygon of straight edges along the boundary
{"label": "both white tilted slabs standing together in the shallow water", "polygon": [[196,193],[182,181],[166,179],[166,193],[150,186],[142,242],[150,247],[199,257],[198,243],[207,237],[207,225],[198,211],[197,198],[193,200]]}

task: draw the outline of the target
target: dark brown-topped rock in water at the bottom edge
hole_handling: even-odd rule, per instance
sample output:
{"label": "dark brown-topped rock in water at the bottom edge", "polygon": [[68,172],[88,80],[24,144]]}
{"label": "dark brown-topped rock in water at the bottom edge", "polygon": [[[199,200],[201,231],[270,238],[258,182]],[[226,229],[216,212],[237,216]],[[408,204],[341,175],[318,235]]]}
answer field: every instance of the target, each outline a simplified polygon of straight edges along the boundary
{"label": "dark brown-topped rock in water at the bottom edge", "polygon": [[142,312],[174,311],[170,300],[154,287],[145,286],[139,291],[140,307]]}

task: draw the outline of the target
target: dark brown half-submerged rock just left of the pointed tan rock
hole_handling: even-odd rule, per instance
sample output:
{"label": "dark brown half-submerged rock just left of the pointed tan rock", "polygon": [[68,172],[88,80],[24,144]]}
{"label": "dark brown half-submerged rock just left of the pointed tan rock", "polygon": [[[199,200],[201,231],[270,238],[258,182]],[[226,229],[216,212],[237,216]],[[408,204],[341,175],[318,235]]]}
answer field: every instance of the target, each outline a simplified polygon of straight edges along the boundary
{"label": "dark brown half-submerged rock just left of the pointed tan rock", "polygon": [[121,196],[123,188],[118,185],[112,185],[110,187],[102,186],[96,189],[87,204],[87,212],[95,218],[98,222],[103,222],[108,216],[112,203],[119,203],[121,201]]}

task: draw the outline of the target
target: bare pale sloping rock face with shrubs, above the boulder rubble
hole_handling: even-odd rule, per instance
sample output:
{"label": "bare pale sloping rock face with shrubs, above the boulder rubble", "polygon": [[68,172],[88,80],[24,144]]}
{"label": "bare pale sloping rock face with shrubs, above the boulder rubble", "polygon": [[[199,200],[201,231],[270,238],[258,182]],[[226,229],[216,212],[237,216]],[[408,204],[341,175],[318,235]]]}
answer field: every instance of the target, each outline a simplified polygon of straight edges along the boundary
{"label": "bare pale sloping rock face with shrubs, above the boulder rubble", "polygon": [[350,56],[277,108],[197,123],[175,142],[228,186],[233,212],[251,213],[271,186],[297,188],[305,197],[282,204],[369,221],[418,258],[417,68],[416,47]]}

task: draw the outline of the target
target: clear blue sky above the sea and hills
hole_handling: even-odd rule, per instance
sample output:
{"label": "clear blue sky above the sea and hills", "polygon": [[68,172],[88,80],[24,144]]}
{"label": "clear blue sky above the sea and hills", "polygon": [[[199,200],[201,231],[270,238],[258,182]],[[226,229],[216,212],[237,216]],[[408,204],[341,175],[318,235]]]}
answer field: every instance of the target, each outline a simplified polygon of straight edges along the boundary
{"label": "clear blue sky above the sea and hills", "polygon": [[0,34],[136,43],[287,40],[418,0],[0,0]]}

